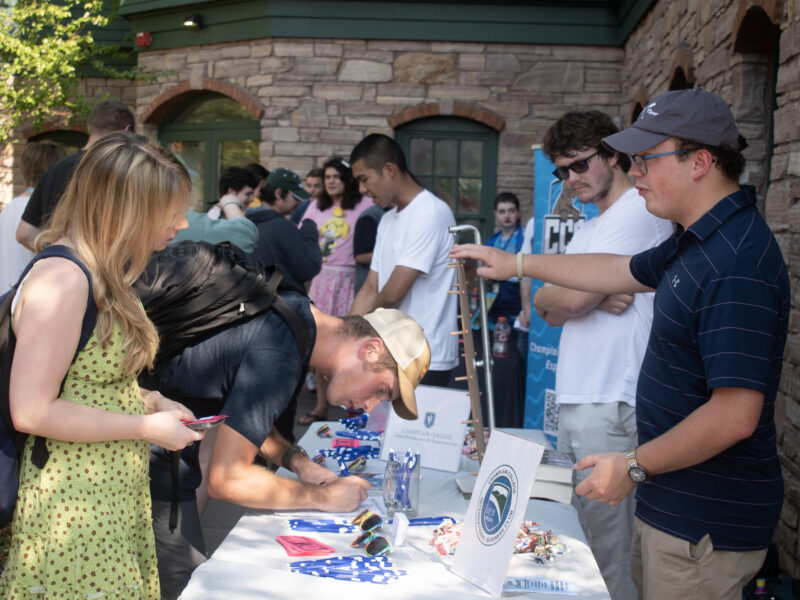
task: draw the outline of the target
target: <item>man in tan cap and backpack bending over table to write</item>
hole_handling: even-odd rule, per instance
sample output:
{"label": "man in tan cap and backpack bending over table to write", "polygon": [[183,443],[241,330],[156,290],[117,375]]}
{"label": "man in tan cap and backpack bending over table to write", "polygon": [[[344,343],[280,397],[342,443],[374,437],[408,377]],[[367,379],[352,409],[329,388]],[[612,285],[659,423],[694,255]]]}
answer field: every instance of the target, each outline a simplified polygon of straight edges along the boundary
{"label": "man in tan cap and backpack bending over table to write", "polygon": [[[234,283],[240,278],[227,271],[241,271],[246,258],[226,261],[220,249],[186,244],[155,256],[136,285],[159,331],[170,331],[165,337],[180,339],[182,346],[172,355],[176,344],[165,347],[166,355],[142,374],[140,384],[181,399],[200,416],[226,415],[216,428],[206,472],[209,495],[259,509],[354,510],[369,484],[358,477],[340,479],[312,462],[278,433],[275,420],[308,366],[327,380],[331,404],[370,412],[390,400],[399,416],[416,418],[414,388],[430,362],[422,328],[396,309],[334,317],[306,295],[280,289],[276,294],[277,285],[268,283],[251,297],[231,294],[242,298],[244,316],[233,320],[239,311],[223,312],[215,320],[225,324],[209,335],[207,307],[224,302],[222,290],[240,287]],[[210,258],[212,253],[218,260]],[[148,277],[151,273],[157,278]],[[211,276],[203,277],[206,273]],[[275,274],[280,272],[269,279]],[[177,297],[179,289],[191,292]],[[263,298],[272,301],[270,308],[247,315]],[[278,477],[254,463],[259,455],[297,479]],[[173,456],[154,449],[150,463],[163,599],[177,598],[206,557],[196,501],[203,480],[199,450],[196,445],[185,449],[179,462]]]}

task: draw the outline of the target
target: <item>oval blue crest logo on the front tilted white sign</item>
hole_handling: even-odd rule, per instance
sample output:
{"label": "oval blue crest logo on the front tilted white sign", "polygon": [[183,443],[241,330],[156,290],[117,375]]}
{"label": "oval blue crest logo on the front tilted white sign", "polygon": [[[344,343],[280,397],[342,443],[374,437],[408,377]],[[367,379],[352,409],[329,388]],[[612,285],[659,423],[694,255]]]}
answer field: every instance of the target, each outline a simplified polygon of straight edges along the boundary
{"label": "oval blue crest logo on the front tilted white sign", "polygon": [[517,485],[517,474],[509,465],[500,465],[486,480],[475,512],[475,530],[484,546],[496,544],[511,524]]}

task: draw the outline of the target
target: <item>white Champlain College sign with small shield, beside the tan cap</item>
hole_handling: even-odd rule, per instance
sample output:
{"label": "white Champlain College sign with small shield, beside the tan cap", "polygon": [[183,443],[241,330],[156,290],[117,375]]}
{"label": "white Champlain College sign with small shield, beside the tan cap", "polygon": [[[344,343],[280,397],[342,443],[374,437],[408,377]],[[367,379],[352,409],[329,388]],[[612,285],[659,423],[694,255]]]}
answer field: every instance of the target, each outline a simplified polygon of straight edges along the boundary
{"label": "white Champlain College sign with small shield, beside the tan cap", "polygon": [[469,418],[469,396],[464,390],[420,385],[416,397],[418,419],[407,421],[394,412],[389,417],[381,460],[389,459],[389,450],[402,455],[410,448],[420,454],[426,469],[457,472]]}

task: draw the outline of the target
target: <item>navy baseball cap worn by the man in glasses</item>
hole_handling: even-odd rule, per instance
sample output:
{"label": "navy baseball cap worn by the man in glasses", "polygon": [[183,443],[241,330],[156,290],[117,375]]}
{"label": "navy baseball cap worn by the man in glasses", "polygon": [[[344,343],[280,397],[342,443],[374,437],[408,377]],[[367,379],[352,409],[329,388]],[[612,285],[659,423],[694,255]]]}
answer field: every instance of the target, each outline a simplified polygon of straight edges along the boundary
{"label": "navy baseball cap worn by the man in glasses", "polygon": [[739,147],[739,129],[727,103],[699,88],[676,90],[658,96],[642,109],[627,129],[603,138],[617,152],[635,154],[668,137],[707,146]]}

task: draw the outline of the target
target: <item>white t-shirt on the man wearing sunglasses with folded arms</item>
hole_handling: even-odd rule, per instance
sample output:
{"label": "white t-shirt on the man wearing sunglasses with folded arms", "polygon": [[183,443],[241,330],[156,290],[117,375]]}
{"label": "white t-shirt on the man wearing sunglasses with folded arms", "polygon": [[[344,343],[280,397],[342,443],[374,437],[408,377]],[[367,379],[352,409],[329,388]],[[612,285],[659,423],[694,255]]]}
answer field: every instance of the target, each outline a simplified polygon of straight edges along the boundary
{"label": "white t-shirt on the man wearing sunglasses with folded arms", "polygon": [[[672,223],[647,212],[644,199],[631,188],[604,213],[586,221],[566,253],[636,254],[671,234]],[[621,315],[596,308],[564,324],[556,371],[559,403],[635,405],[636,381],[653,321],[653,296],[635,294]]]}

